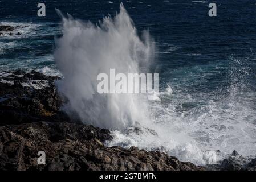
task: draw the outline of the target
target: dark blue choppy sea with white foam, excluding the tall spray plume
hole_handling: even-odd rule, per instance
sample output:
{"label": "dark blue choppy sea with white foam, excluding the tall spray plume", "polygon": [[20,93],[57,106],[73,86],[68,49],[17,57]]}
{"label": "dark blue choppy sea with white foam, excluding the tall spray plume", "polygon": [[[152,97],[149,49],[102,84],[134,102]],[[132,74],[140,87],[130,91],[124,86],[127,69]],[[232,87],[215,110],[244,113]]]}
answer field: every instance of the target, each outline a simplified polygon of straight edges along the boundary
{"label": "dark blue choppy sea with white foam, excluding the tall spray plume", "polygon": [[[220,159],[233,150],[255,157],[256,2],[214,1],[214,18],[208,16],[210,1],[122,2],[139,37],[149,30],[153,38],[151,67],[159,73],[160,94],[148,108],[154,131],[113,130],[108,145],[161,149],[196,164],[207,163],[209,150],[220,150]],[[0,37],[0,72],[62,75],[53,56],[62,35],[55,8],[97,23],[115,16],[121,1],[44,3],[46,17],[38,17],[38,2],[0,0],[0,24],[21,26],[15,30],[21,35]]]}

